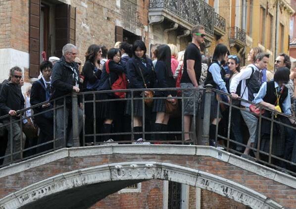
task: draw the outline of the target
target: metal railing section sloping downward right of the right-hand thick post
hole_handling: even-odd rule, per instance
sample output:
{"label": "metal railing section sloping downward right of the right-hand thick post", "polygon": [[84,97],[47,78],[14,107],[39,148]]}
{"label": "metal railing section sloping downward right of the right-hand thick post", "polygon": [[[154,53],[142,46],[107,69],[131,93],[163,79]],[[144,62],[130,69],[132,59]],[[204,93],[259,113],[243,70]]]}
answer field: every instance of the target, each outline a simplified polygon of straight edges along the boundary
{"label": "metal railing section sloping downward right of the right-hand thick post", "polygon": [[[216,90],[216,89],[212,89],[212,91],[207,90],[206,92],[210,92],[210,94],[215,93],[217,95],[225,95],[225,96],[229,96],[231,98],[231,95],[226,94],[226,93]],[[294,143],[296,127],[292,126],[291,122],[288,122],[288,123],[283,122],[285,119],[288,119],[288,120],[291,119],[292,121],[295,121],[296,117],[274,111],[272,109],[267,108],[266,106],[263,106],[260,104],[254,104],[252,102],[243,100],[241,98],[238,98],[237,100],[239,100],[240,102],[253,104],[253,105],[259,107],[261,110],[264,109],[265,111],[270,111],[271,118],[264,116],[261,111],[260,111],[260,114],[255,114],[249,110],[246,110],[245,107],[242,108],[241,105],[237,105],[237,104],[235,105],[235,104],[233,104],[233,101],[234,101],[233,99],[230,99],[229,103],[225,103],[222,100],[218,101],[217,116],[216,116],[217,119],[219,118],[219,114],[221,113],[221,108],[220,108],[221,105],[227,106],[229,111],[228,111],[228,124],[226,127],[227,133],[226,133],[226,135],[221,135],[218,133],[219,125],[223,125],[221,123],[218,123],[218,125],[216,126],[216,137],[215,137],[216,142],[218,142],[218,141],[222,142],[220,144],[220,146],[225,148],[225,150],[227,152],[231,152],[231,153],[234,153],[237,155],[242,155],[244,151],[240,152],[240,151],[236,150],[235,149],[236,146],[248,148],[251,150],[251,154],[247,156],[248,159],[255,161],[257,163],[264,164],[266,166],[278,169],[280,171],[296,175],[296,172],[295,172],[296,171],[296,169],[295,169],[296,168],[295,167],[296,166],[296,143]],[[207,103],[208,101],[205,101],[205,102]],[[247,146],[246,143],[240,143],[240,142],[236,141],[234,136],[232,138],[232,136],[231,136],[232,135],[232,128],[233,128],[232,126],[234,124],[232,124],[231,120],[232,120],[232,114],[233,114],[232,110],[234,110],[234,109],[240,110],[240,111],[247,111],[250,114],[252,114],[258,118],[257,129],[256,129],[256,140],[255,140],[253,146]],[[280,136],[278,136],[276,139],[274,139],[273,134],[270,134],[269,140],[266,138],[262,139],[262,134],[261,134],[262,120],[267,120],[267,121],[271,122],[270,133],[273,133],[273,131],[275,129],[275,124],[277,124],[277,126],[281,127]],[[289,135],[289,132],[287,132],[287,129],[290,129],[290,131],[292,131],[292,134],[290,132],[290,135]],[[242,135],[243,135],[243,133],[242,133]],[[283,137],[284,137],[284,140],[283,140]],[[291,145],[291,143],[289,145],[288,142],[285,141],[285,140],[287,140],[288,137],[293,138],[292,145]],[[218,140],[218,139],[220,139],[220,140]],[[269,146],[267,148],[266,147],[264,148],[265,150],[262,147],[260,147],[262,145],[263,140],[267,140],[267,142],[269,144]],[[275,152],[277,152],[275,150],[280,149],[280,148],[278,148],[278,147],[275,148],[273,146],[273,143],[278,144],[279,140],[282,140],[281,142],[285,141],[284,142],[285,146],[282,144],[282,149],[283,149],[283,146],[285,149],[280,151],[280,153],[283,153],[283,155],[280,155],[280,156],[277,154],[274,154]],[[226,144],[225,143],[223,144],[223,141]],[[246,141],[246,139],[245,139],[245,141]],[[292,146],[292,147],[289,147],[289,146]],[[290,153],[291,155],[288,155],[289,153],[285,153],[285,152],[287,152],[287,149],[290,149],[289,152],[291,152]],[[267,152],[266,152],[266,150],[267,150]]]}

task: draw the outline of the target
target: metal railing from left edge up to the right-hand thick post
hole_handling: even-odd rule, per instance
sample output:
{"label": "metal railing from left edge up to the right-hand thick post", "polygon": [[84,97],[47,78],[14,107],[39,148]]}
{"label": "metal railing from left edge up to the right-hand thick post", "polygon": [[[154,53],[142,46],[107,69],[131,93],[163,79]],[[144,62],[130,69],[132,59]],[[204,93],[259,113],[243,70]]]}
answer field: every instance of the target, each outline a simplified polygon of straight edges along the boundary
{"label": "metal railing from left edge up to the right-hand thick post", "polygon": [[[151,108],[148,108],[145,105],[145,99],[147,99],[144,95],[145,91],[149,91],[152,90],[154,92],[157,91],[171,91],[171,92],[176,92],[177,90],[181,91],[181,95],[179,97],[172,97],[172,99],[177,99],[179,100],[179,114],[175,114],[174,117],[178,118],[178,121],[180,121],[179,124],[179,129],[174,130],[174,131],[160,131],[160,132],[153,132],[150,130],[149,128],[149,124],[147,123],[153,123],[154,121],[151,121],[151,118],[149,116],[147,116],[147,112],[151,111]],[[197,132],[195,129],[192,129],[189,132],[185,132],[184,131],[184,100],[188,100],[188,99],[193,99],[193,106],[194,106],[194,113],[193,113],[193,119],[192,119],[192,124],[193,127],[196,127],[197,125],[197,111],[196,111],[196,106],[198,106],[199,104],[199,98],[196,97],[185,97],[184,96],[184,91],[188,91],[188,90],[192,90],[192,89],[186,89],[186,88],[182,88],[182,89],[177,89],[177,88],[169,88],[169,89],[128,89],[128,90],[117,90],[117,92],[126,92],[129,97],[124,98],[124,99],[99,99],[99,95],[102,94],[112,94],[114,91],[112,90],[108,90],[108,91],[94,91],[94,92],[81,92],[81,93],[73,93],[72,95],[67,95],[61,98],[57,98],[54,99],[52,101],[50,101],[50,103],[52,104],[52,107],[47,109],[46,111],[42,111],[42,112],[38,112],[38,113],[34,113],[31,116],[23,116],[25,114],[25,112],[27,110],[30,109],[34,109],[37,107],[41,107],[43,104],[47,104],[48,102],[43,102],[40,104],[36,104],[36,105],[32,105],[31,107],[22,109],[17,111],[18,113],[18,118],[14,118],[13,116],[10,115],[4,115],[0,117],[0,121],[2,121],[2,123],[0,122],[0,130],[6,130],[8,131],[8,140],[10,143],[10,149],[7,151],[6,150],[6,154],[4,156],[0,157],[0,164],[1,161],[3,161],[2,166],[4,165],[8,165],[10,163],[13,162],[18,162],[21,160],[25,160],[31,157],[36,157],[39,155],[43,155],[45,153],[63,148],[63,147],[67,147],[67,144],[69,143],[69,135],[71,132],[69,132],[70,128],[71,128],[71,124],[69,124],[68,122],[72,121],[72,134],[73,134],[73,143],[71,146],[74,147],[78,147],[78,146],[91,146],[91,145],[100,145],[100,144],[106,144],[106,143],[112,143],[110,141],[108,142],[104,142],[102,140],[103,136],[110,136],[110,138],[114,139],[113,143],[134,143],[137,139],[134,138],[134,136],[136,134],[141,134],[143,139],[146,139],[148,142],[150,143],[160,143],[159,140],[151,140],[151,135],[153,134],[170,134],[170,135],[174,135],[172,137],[171,140],[167,140],[165,142],[161,142],[161,143],[176,143],[176,144],[184,144],[184,135],[185,134],[190,134],[191,136],[193,136],[193,139],[191,141],[192,144],[197,144]],[[202,95],[204,89],[198,89],[197,91],[199,92],[199,96]],[[139,95],[142,95],[141,97],[139,97]],[[70,97],[70,103],[69,103],[69,97]],[[153,100],[155,99],[163,99],[166,100],[166,97],[153,97]],[[128,101],[131,101],[131,115],[128,118],[129,120],[129,130],[124,130],[121,132],[111,132],[111,133],[100,133],[100,130],[98,129],[99,124],[97,123],[97,121],[99,121],[101,118],[99,118],[97,111],[97,105],[98,104],[102,104],[104,102],[116,102],[116,103],[120,103],[119,105],[124,105],[125,103],[127,103]],[[143,109],[142,109],[142,113],[143,113],[143,117],[142,117],[142,124],[143,124],[143,131],[141,132],[135,132],[133,127],[134,127],[134,120],[132,120],[131,118],[133,118],[134,116],[134,108],[133,105],[136,101],[142,101],[143,104]],[[81,103],[82,106],[82,111],[83,111],[83,119],[82,121],[79,120],[79,116],[78,116],[78,109],[79,107],[79,103]],[[122,106],[121,106],[122,107]],[[69,110],[70,109],[70,110]],[[60,117],[57,117],[57,111],[62,110],[62,137],[58,137],[57,136],[57,123],[61,123],[61,121],[59,121]],[[38,117],[38,116],[42,116],[45,112],[49,112],[49,111],[53,111],[53,118],[52,118],[52,125],[53,125],[53,133],[52,133],[52,139],[47,140],[46,142],[42,143],[42,144],[36,144],[33,146],[27,146],[25,147],[25,140],[23,137],[24,134],[21,134],[21,136],[16,139],[15,135],[14,135],[14,131],[16,130],[15,128],[13,128],[14,124],[17,124],[17,126],[19,127],[19,131],[20,133],[24,132],[24,124],[23,121],[25,119],[33,119],[34,117]],[[90,112],[91,111],[91,112]],[[67,112],[70,112],[70,115],[67,115]],[[91,113],[91,115],[90,115]],[[90,116],[90,117],[86,117],[86,115]],[[72,120],[68,121],[66,120],[66,118],[71,117],[72,116]],[[3,123],[4,121],[4,123]],[[66,123],[67,122],[67,123]],[[87,126],[86,124],[91,124],[92,126],[92,131],[91,133],[87,133]],[[67,126],[68,124],[68,126]],[[80,133],[79,131],[79,127],[82,125],[82,131]],[[101,125],[101,124],[100,124]],[[100,127],[99,127],[100,128]],[[90,129],[88,129],[90,130]],[[3,136],[1,136],[3,138]],[[115,140],[116,138],[116,140]],[[26,140],[32,140],[32,139],[26,139]],[[36,139],[35,139],[36,140]],[[28,141],[27,141],[28,142]],[[50,146],[49,146],[50,145]],[[16,147],[17,146],[17,147]],[[43,146],[49,146],[50,148],[48,148],[46,151],[43,152],[38,152],[38,149],[40,149]],[[37,151],[36,151],[37,150]],[[32,154],[33,153],[33,154]]]}

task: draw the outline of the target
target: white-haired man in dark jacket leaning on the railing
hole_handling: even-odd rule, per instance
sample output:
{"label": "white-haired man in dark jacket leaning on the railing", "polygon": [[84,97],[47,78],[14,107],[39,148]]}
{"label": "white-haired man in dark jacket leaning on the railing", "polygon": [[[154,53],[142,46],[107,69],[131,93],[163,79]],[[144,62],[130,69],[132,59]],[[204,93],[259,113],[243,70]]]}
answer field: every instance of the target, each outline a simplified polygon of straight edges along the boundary
{"label": "white-haired man in dark jacket leaning on the railing", "polygon": [[[75,57],[78,53],[77,47],[73,44],[66,44],[63,47],[63,56],[53,65],[51,74],[51,86],[53,89],[51,99],[67,95],[71,92],[79,92],[79,71],[78,64],[75,62]],[[64,108],[56,109],[56,138],[59,139],[56,146],[62,146],[64,136],[64,122],[67,128],[70,129],[69,136],[66,139],[66,146],[73,146],[73,128],[68,127],[68,118],[72,117],[72,99],[67,96],[66,112],[64,121]],[[57,105],[63,105],[63,99],[56,101]],[[78,104],[77,104],[78,105]],[[78,108],[78,121],[83,120],[83,111]],[[82,123],[79,123],[79,132],[82,129]],[[67,136],[67,134],[66,134]]]}

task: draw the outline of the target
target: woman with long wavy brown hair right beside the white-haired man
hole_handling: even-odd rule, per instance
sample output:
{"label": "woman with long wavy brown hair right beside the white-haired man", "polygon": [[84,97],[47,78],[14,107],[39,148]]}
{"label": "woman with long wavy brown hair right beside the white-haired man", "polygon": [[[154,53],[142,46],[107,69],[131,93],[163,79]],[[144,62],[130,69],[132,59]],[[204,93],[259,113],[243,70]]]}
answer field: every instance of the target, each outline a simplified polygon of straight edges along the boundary
{"label": "woman with long wavy brown hair right beside the white-haired man", "polygon": [[[84,76],[84,92],[97,91],[99,87],[99,79],[101,75],[101,70],[99,69],[99,60],[101,58],[101,54],[101,47],[96,44],[89,46],[87,52],[85,53],[86,61],[82,69],[82,74]],[[85,101],[92,101],[94,99],[96,100],[92,94],[85,95]],[[86,115],[85,133],[94,134],[94,122],[96,122],[96,133],[99,133],[99,121],[94,121],[94,104],[85,103],[84,112]],[[94,137],[91,136],[88,136],[85,139],[87,143],[94,141]]]}

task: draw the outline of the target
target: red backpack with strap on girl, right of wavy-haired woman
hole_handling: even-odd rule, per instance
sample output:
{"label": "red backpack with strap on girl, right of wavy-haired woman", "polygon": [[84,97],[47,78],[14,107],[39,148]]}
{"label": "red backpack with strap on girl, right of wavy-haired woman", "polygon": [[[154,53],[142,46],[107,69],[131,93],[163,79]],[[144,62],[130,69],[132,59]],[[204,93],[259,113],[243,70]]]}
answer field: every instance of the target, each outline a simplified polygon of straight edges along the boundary
{"label": "red backpack with strap on girl, right of wavy-haired woman", "polygon": [[[110,62],[110,59],[108,59],[105,63],[107,74],[110,74],[109,62]],[[109,82],[110,82],[110,76],[109,76]],[[126,89],[127,85],[128,85],[128,82],[124,73],[118,74],[118,79],[112,85],[110,83],[110,87],[112,90]],[[125,98],[126,92],[114,92],[114,95],[117,98],[123,99]]]}

